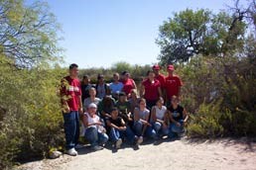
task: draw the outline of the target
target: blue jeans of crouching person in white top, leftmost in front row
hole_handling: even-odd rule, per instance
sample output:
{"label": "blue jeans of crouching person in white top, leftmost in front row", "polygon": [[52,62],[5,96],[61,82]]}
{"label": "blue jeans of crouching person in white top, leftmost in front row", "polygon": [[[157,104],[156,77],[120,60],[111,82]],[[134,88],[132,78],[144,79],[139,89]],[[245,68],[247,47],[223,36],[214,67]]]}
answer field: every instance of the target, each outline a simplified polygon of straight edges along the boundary
{"label": "blue jeans of crouching person in white top, leftmost in front row", "polygon": [[88,140],[91,146],[105,144],[108,140],[108,135],[99,132],[97,127],[87,127],[85,129],[84,137]]}

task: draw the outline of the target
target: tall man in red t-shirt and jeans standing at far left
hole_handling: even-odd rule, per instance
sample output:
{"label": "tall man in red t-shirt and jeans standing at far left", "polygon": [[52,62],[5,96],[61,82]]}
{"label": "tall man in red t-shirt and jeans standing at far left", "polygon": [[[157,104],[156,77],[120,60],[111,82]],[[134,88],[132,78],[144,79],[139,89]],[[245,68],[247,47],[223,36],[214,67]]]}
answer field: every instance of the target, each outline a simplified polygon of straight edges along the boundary
{"label": "tall man in red t-shirt and jeans standing at far left", "polygon": [[78,65],[69,65],[69,75],[62,80],[62,106],[64,115],[64,134],[66,153],[76,156],[74,147],[79,138],[79,113],[82,113],[80,82],[77,79]]}

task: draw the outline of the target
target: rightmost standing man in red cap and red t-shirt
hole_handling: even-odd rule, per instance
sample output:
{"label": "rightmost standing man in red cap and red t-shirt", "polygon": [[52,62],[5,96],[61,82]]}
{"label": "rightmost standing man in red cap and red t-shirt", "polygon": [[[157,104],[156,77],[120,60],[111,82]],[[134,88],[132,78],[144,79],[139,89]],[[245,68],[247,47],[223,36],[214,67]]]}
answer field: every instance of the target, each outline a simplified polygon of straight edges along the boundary
{"label": "rightmost standing man in red cap and red t-shirt", "polygon": [[174,74],[175,67],[174,65],[168,65],[167,71],[169,73],[168,77],[166,77],[166,101],[167,104],[171,103],[171,99],[173,96],[180,96],[180,90],[183,86],[183,82],[178,75]]}

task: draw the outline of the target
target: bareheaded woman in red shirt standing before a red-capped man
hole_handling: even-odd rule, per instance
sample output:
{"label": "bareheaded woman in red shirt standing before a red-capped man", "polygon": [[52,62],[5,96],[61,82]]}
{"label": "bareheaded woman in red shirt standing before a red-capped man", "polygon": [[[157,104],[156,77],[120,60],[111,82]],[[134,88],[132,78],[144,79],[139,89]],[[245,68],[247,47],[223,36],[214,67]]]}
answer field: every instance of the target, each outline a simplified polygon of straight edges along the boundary
{"label": "bareheaded woman in red shirt standing before a red-capped man", "polygon": [[148,71],[148,78],[142,82],[141,97],[147,101],[147,107],[151,110],[156,105],[159,97],[162,97],[160,82],[155,78],[153,71]]}

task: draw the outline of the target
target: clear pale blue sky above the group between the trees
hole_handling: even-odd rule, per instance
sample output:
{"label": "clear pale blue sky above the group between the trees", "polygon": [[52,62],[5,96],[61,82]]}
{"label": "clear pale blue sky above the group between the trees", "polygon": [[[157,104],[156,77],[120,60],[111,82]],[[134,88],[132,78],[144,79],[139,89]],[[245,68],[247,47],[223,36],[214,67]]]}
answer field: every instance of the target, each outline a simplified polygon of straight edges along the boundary
{"label": "clear pale blue sky above the group between the trees", "polygon": [[214,12],[232,0],[45,0],[62,25],[65,65],[80,68],[158,62],[159,26],[175,12],[206,8]]}

